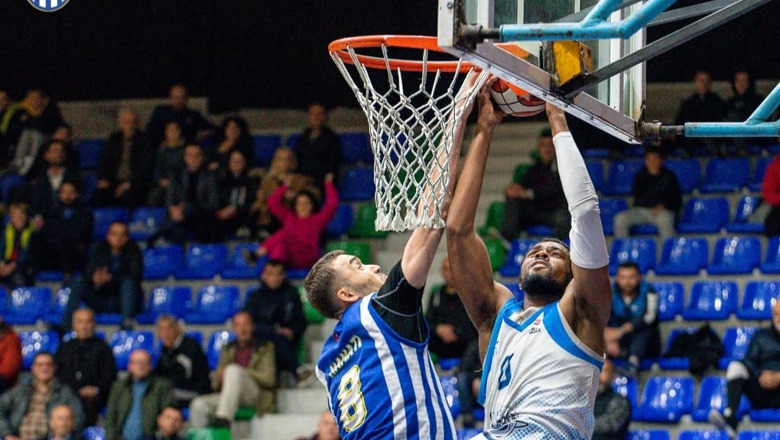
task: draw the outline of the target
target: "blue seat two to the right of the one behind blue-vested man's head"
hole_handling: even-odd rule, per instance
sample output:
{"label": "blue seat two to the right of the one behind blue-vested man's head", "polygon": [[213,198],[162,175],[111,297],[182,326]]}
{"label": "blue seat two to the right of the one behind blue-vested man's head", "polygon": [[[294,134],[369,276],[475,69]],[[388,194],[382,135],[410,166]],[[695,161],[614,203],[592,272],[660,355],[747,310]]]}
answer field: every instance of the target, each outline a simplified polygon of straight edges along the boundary
{"label": "blue seat two to the right of the one behind blue-vested man's head", "polygon": [[758,237],[721,237],[715,242],[707,273],[747,275],[760,265],[761,240]]}

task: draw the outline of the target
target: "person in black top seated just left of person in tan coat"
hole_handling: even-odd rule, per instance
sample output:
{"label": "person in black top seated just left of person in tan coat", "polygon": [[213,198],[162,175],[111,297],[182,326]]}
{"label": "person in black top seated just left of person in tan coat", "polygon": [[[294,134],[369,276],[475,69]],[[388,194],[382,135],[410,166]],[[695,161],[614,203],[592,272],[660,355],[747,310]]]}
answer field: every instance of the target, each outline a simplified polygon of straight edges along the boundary
{"label": "person in black top seated just left of person in tan coat", "polygon": [[222,238],[228,240],[240,232],[248,238],[249,209],[254,203],[257,182],[249,176],[247,159],[241,150],[230,153],[227,172],[219,180],[220,208],[216,212]]}

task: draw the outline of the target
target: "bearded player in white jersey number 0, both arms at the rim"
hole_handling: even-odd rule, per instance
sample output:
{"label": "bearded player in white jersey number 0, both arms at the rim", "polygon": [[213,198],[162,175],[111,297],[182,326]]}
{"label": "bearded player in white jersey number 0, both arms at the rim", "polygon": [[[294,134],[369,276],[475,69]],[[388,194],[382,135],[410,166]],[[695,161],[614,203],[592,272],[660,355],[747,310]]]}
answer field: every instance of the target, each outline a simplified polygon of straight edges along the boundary
{"label": "bearded player in white jersey number 0, both arms at the rim", "polygon": [[447,219],[453,281],[479,331],[484,361],[485,430],[476,438],[572,440],[593,433],[611,307],[609,256],[598,197],[565,114],[548,103],[547,116],[572,217],[571,251],[557,239],[542,239],[528,251],[520,273],[523,302],[493,280],[474,231],[490,139],[502,118],[494,105],[480,108],[480,121],[489,123],[477,126]]}

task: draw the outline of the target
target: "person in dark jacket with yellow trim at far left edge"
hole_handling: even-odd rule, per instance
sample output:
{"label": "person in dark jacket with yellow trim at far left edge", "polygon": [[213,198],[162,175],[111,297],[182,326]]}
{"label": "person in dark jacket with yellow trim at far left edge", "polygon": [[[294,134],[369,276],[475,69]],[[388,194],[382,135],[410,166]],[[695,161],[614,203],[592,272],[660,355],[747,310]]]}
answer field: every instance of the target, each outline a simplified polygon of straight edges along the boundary
{"label": "person in dark jacket with yellow trim at far left edge", "polygon": [[8,207],[9,222],[0,237],[0,284],[8,289],[32,286],[34,269],[31,264],[31,243],[38,238],[38,231],[30,222],[27,205],[12,204]]}

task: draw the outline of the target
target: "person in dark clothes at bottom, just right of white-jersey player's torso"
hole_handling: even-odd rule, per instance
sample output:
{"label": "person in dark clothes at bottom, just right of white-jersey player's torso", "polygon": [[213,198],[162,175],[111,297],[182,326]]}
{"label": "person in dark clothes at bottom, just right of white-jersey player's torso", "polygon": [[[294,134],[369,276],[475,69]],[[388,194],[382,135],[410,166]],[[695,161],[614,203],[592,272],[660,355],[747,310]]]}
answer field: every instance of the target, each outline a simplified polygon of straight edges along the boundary
{"label": "person in dark clothes at bottom, just right of white-jersey player's torso", "polygon": [[612,389],[615,370],[609,359],[604,361],[599,375],[599,391],[593,408],[595,425],[593,440],[623,440],[631,423],[631,403]]}

